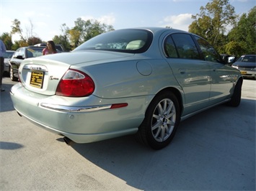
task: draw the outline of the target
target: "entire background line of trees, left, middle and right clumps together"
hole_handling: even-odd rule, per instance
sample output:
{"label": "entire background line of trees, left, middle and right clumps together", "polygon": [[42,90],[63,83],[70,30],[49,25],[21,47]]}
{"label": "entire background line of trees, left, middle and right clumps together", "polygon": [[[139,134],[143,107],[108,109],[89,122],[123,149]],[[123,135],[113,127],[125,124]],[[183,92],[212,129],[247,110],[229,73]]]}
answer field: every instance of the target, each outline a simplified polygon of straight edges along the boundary
{"label": "entire background line of trees, left, middle and right clumps together", "polygon": [[[244,55],[256,53],[256,6],[248,14],[235,14],[229,0],[211,0],[200,7],[200,13],[192,16],[193,22],[188,32],[205,38],[219,53]],[[170,27],[169,27],[170,28]],[[228,31],[228,28],[231,28]],[[102,24],[94,19],[87,21],[78,18],[74,27],[61,25],[61,34],[53,37],[53,42],[63,45],[66,51],[74,50],[81,43],[92,37],[115,30],[112,25]],[[20,39],[12,42],[12,34],[19,34]],[[1,34],[7,50],[35,45],[42,42],[33,32],[33,24],[24,32],[18,19],[12,22],[12,31]]]}

